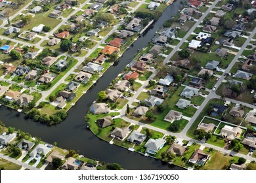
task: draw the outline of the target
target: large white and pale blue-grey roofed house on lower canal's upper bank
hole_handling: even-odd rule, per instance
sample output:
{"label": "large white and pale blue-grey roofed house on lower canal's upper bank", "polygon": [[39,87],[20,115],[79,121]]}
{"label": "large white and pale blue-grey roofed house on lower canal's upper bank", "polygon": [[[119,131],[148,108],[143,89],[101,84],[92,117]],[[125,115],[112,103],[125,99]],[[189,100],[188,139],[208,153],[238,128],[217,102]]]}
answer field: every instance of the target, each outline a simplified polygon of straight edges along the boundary
{"label": "large white and pale blue-grey roofed house on lower canal's upper bank", "polygon": [[146,153],[156,154],[165,144],[164,139],[149,139],[144,147],[146,148]]}

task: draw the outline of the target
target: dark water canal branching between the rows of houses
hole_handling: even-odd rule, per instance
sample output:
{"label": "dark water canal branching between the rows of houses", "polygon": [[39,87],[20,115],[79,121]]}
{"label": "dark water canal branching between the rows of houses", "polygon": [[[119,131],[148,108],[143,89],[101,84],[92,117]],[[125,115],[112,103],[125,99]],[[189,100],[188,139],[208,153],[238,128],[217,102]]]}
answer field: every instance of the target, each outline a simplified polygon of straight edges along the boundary
{"label": "dark water canal branching between the rows of houses", "polygon": [[57,142],[60,148],[74,149],[77,153],[87,158],[95,158],[108,163],[119,163],[125,169],[181,169],[175,165],[166,165],[159,160],[142,156],[136,152],[129,152],[125,148],[110,145],[108,142],[98,139],[91,131],[85,128],[84,116],[95,101],[97,93],[105,90],[110,82],[133,60],[137,50],[144,48],[154,37],[154,34],[163,23],[174,16],[181,1],[175,1],[169,5],[157,22],[148,28],[143,35],[133,43],[119,62],[114,64],[96,84],[77,101],[76,105],[68,111],[68,118],[55,126],[42,125],[39,122],[26,120],[26,114],[7,108],[0,107],[0,120],[7,126],[15,127],[30,133],[32,136],[40,137],[43,141]]}

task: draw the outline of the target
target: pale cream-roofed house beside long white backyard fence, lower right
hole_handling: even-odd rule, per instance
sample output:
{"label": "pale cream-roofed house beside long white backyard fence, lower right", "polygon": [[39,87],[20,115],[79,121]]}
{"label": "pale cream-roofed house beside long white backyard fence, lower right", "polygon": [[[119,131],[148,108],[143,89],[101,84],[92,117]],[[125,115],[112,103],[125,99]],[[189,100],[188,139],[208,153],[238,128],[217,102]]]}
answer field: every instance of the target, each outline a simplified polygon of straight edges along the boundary
{"label": "pale cream-roofed house beside long white backyard fence, lower right", "polygon": [[229,141],[234,140],[235,138],[240,138],[243,130],[240,127],[232,127],[230,125],[224,125],[221,129],[220,135],[226,137]]}

